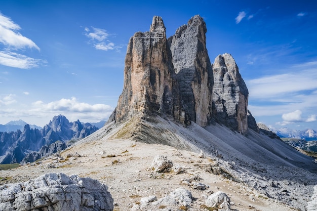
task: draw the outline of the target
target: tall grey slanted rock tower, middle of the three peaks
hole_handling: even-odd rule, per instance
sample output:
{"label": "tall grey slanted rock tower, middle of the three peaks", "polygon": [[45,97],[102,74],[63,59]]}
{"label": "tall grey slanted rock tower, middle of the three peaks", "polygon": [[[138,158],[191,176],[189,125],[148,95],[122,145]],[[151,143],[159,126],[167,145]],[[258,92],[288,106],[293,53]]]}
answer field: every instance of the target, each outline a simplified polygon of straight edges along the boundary
{"label": "tall grey slanted rock tower, middle of the three peaks", "polygon": [[213,71],[206,49],[206,24],[194,16],[169,38],[184,109],[190,120],[206,126],[211,118]]}

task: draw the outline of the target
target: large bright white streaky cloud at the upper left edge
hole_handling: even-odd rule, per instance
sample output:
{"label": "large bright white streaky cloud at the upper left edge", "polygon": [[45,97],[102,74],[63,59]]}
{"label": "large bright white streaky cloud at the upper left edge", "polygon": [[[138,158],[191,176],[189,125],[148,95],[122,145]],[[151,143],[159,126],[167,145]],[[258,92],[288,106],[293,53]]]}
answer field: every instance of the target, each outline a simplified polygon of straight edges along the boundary
{"label": "large bright white streaky cloud at the upper left edge", "polygon": [[20,29],[18,24],[0,13],[0,43],[5,47],[3,51],[0,51],[0,64],[21,69],[37,67],[45,61],[16,53],[25,48],[34,48],[39,51],[39,47],[31,39],[19,32]]}

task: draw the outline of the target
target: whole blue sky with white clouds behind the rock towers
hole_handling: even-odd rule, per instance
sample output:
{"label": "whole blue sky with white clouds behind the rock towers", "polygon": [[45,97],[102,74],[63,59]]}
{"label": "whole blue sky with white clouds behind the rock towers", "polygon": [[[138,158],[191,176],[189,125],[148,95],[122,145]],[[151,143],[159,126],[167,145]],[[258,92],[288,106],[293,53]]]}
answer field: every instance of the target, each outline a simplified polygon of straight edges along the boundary
{"label": "whole blue sky with white clouds behind the rock towers", "polygon": [[0,124],[106,120],[129,38],[154,15],[169,37],[199,14],[211,62],[233,56],[257,122],[317,129],[317,1],[2,0],[0,13]]}

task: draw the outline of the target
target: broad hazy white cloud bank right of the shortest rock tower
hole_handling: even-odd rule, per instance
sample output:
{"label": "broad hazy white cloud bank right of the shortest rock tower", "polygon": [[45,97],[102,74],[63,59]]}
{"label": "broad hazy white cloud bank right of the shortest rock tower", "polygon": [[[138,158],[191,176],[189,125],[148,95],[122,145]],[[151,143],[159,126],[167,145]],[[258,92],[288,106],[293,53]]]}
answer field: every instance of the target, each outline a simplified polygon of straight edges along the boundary
{"label": "broad hazy white cloud bank right of the shortest rock tower", "polygon": [[292,65],[285,72],[246,81],[252,114],[281,115],[279,125],[315,121],[317,62]]}

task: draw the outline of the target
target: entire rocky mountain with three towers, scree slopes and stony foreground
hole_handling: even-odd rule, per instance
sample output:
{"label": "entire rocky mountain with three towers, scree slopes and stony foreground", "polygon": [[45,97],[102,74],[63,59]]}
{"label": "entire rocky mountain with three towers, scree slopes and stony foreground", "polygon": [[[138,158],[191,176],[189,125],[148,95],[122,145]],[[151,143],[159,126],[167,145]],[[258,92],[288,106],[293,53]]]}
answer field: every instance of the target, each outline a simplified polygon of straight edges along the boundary
{"label": "entire rocky mountain with three towers, scree slopes and stony foreground", "polygon": [[211,63],[206,32],[196,15],[167,38],[154,16],[130,38],[107,123],[0,171],[0,209],[317,210],[314,158],[258,128],[237,64],[227,53]]}

